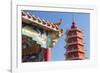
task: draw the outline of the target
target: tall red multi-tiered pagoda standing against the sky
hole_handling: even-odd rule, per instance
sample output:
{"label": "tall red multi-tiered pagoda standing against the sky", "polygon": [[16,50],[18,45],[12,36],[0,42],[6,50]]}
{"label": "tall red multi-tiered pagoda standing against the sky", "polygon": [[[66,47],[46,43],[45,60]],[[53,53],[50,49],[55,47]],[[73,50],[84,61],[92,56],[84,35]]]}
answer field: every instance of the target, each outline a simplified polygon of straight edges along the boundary
{"label": "tall red multi-tiered pagoda standing against the sky", "polygon": [[71,28],[66,31],[66,60],[84,60],[86,52],[84,48],[83,32],[77,27],[75,21],[72,22]]}

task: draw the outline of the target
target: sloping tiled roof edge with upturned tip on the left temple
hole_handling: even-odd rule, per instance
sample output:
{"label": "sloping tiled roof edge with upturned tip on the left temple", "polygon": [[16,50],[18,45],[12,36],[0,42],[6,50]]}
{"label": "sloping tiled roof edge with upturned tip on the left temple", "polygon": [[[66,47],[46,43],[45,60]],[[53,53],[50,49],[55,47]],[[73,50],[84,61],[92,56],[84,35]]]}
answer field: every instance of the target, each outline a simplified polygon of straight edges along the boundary
{"label": "sloping tiled roof edge with upturned tip on the left temple", "polygon": [[39,17],[35,17],[33,15],[31,16],[29,13],[26,13],[24,11],[22,11],[22,21],[29,23],[33,26],[41,27],[47,31],[59,31],[59,30],[61,30],[59,28],[61,21],[57,22],[57,23],[45,21],[45,20],[40,19]]}

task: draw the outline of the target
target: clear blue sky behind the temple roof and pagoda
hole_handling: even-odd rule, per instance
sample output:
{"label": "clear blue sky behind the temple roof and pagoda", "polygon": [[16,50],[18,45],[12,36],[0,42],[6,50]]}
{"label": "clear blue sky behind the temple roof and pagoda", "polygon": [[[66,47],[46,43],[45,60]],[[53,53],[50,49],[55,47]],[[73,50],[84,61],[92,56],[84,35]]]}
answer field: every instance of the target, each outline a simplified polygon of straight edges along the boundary
{"label": "clear blue sky behind the temple roof and pagoda", "polygon": [[64,29],[63,36],[59,39],[56,46],[52,49],[52,61],[64,60],[65,56],[65,32],[72,25],[73,19],[76,21],[77,26],[82,29],[84,33],[84,43],[86,49],[86,57],[90,58],[90,14],[89,13],[79,13],[79,12],[53,12],[53,11],[31,11],[25,10],[31,15],[35,15],[44,20],[49,20],[51,22],[59,22],[62,18],[63,22],[60,25]]}

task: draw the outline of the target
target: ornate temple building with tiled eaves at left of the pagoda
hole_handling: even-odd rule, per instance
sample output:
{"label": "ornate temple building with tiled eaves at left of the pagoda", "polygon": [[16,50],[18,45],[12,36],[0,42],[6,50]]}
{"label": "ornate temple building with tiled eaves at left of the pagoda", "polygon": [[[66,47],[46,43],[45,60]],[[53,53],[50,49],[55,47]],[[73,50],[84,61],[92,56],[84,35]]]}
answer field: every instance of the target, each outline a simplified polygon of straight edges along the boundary
{"label": "ornate temple building with tiled eaves at left of the pagoda", "polygon": [[22,16],[22,62],[50,61],[51,50],[62,36],[60,22],[54,23],[30,15]]}

